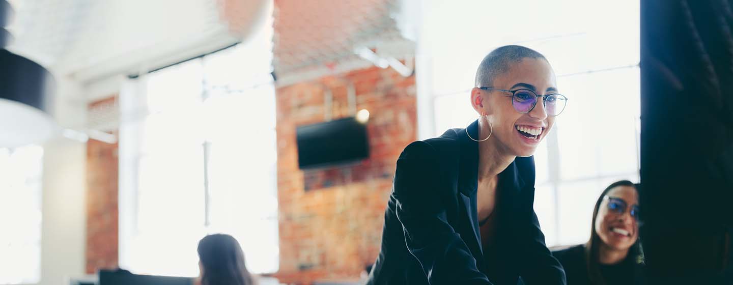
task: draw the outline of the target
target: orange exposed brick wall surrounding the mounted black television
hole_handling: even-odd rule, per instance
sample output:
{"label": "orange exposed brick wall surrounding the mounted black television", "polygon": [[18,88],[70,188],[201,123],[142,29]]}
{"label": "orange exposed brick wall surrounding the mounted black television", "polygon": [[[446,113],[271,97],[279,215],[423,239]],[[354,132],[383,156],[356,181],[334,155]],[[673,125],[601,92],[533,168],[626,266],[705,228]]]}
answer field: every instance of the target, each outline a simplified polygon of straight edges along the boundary
{"label": "orange exposed brick wall surrounding the mounted black television", "polygon": [[[295,128],[323,122],[324,90],[333,118],[350,116],[347,82],[357,109],[369,110],[370,157],[353,166],[301,171]],[[380,249],[383,214],[399,153],[416,139],[415,77],[372,67],[276,90],[280,270],[283,283],[356,278]],[[307,191],[306,191],[307,189]]]}

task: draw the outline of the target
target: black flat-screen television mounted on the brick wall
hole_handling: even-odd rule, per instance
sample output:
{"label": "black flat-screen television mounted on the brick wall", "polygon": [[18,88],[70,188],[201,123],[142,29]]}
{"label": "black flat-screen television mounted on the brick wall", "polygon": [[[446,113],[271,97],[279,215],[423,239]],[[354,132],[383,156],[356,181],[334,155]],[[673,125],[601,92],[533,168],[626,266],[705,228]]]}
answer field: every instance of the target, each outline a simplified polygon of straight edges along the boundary
{"label": "black flat-screen television mounted on the brick wall", "polygon": [[301,125],[295,133],[300,169],[358,163],[369,158],[367,123],[353,117]]}

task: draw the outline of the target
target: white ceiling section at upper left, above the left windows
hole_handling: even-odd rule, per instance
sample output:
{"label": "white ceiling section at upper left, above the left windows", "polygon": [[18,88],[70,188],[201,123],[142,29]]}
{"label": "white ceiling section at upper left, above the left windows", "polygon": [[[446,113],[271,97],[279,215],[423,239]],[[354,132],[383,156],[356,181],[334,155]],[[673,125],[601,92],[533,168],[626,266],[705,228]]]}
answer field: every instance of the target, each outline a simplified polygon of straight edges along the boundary
{"label": "white ceiling section at upper left, above the left windows", "polygon": [[[139,73],[243,40],[268,0],[9,0],[9,49],[80,82]],[[226,8],[226,9],[225,9]]]}

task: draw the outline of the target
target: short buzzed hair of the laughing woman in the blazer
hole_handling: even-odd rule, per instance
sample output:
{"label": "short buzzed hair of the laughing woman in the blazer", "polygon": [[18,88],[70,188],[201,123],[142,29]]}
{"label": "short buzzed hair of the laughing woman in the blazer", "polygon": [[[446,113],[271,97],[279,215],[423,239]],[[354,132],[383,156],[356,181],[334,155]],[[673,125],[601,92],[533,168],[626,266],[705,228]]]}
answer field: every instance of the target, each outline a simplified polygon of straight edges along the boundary
{"label": "short buzzed hair of the laughing woman in the blazer", "polygon": [[521,62],[522,59],[545,59],[542,53],[521,45],[504,45],[491,51],[479,64],[476,70],[476,87],[493,87],[496,76],[506,73],[509,64]]}

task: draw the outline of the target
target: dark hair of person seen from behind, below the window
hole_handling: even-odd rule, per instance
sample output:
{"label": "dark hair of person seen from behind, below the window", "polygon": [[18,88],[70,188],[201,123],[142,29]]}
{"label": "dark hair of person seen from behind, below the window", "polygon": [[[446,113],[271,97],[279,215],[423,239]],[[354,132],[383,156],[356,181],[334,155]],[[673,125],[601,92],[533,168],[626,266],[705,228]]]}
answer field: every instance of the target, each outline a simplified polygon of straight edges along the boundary
{"label": "dark hair of person seen from behind, below the window", "polygon": [[244,262],[244,253],[229,234],[210,234],[199,241],[199,260],[204,272],[202,285],[251,285],[252,275]]}

